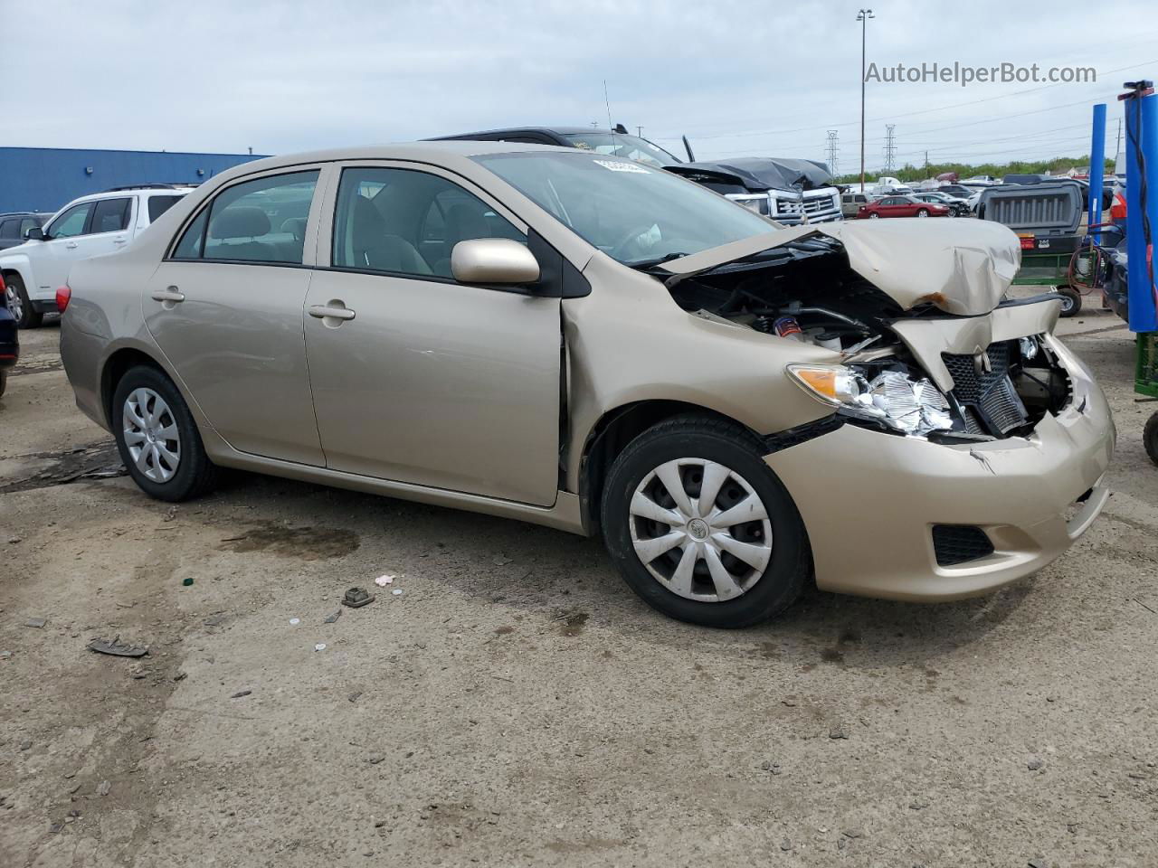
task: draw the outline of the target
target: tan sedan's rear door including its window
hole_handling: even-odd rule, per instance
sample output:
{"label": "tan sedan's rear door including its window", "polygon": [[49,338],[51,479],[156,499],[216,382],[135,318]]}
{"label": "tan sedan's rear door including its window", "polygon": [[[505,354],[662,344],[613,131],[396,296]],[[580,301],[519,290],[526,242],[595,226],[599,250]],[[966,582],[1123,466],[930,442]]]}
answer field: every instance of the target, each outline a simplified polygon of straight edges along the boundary
{"label": "tan sedan's rear door including its window", "polygon": [[149,332],[234,449],[316,466],[324,462],[302,304],[318,177],[317,168],[293,168],[225,187],[184,229],[144,297]]}

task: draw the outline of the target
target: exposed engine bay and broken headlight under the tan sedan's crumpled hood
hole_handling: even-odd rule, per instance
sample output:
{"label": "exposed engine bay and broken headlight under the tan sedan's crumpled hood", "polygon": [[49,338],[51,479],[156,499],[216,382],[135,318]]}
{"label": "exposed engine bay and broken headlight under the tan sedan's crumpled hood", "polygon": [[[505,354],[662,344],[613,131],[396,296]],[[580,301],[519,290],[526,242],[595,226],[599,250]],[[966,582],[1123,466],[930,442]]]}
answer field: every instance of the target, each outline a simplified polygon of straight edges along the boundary
{"label": "exposed engine bay and broken headlight under the tan sedan's crumpled hood", "polygon": [[[929,355],[923,365],[894,326],[975,317],[946,314],[932,297],[903,309],[849,266],[833,237],[798,238],[694,274],[655,274],[691,314],[841,353],[838,365],[793,365],[789,373],[853,424],[941,442],[996,440],[1028,435],[1071,399],[1045,334],[941,352],[952,388],[938,387]],[[1033,300],[998,307],[1026,303]]]}

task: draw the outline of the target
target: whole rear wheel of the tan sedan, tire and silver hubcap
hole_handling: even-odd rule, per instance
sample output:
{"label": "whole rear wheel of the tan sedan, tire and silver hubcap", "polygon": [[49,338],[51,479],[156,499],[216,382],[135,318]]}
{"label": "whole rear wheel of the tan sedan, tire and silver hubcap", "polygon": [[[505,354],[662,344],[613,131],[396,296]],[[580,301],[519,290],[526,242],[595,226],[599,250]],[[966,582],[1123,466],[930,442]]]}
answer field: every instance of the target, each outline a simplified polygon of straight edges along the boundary
{"label": "whole rear wheel of the tan sedan, tire and silver hubcap", "polygon": [[110,421],[129,475],[157,500],[189,500],[217,484],[219,470],[181,392],[162,372],[131,368],[117,383]]}

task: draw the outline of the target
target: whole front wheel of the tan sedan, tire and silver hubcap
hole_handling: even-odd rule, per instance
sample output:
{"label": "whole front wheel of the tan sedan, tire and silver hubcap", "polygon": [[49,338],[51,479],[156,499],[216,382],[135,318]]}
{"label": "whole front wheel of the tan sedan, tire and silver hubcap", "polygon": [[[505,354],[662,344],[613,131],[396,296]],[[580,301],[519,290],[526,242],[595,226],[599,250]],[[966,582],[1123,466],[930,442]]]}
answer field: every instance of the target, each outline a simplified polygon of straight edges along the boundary
{"label": "whole front wheel of the tan sedan, tire and silver hubcap", "polygon": [[679,620],[747,627],[800,595],[808,545],[758,441],[681,417],[632,441],[603,488],[603,539],[645,603]]}

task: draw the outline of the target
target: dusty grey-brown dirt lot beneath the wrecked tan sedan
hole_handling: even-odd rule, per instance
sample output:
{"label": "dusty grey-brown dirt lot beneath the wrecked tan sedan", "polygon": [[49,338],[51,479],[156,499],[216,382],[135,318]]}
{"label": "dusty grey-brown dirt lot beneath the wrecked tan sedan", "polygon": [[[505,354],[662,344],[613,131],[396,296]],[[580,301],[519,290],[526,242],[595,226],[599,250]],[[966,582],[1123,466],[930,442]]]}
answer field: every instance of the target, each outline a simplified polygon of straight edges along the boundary
{"label": "dusty grey-brown dirt lot beneath the wrecked tan sedan", "polygon": [[[989,598],[813,591],[735,633],[646,609],[598,540],[249,476],[170,509],[86,477],[111,441],[58,329],[23,332],[0,866],[1158,865],[1155,405],[1111,314],[1061,331],[1120,433],[1068,556]],[[325,623],[383,573],[401,595]],[[117,634],[149,655],[86,650]]]}

